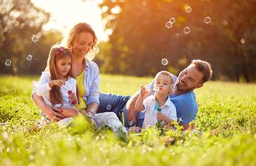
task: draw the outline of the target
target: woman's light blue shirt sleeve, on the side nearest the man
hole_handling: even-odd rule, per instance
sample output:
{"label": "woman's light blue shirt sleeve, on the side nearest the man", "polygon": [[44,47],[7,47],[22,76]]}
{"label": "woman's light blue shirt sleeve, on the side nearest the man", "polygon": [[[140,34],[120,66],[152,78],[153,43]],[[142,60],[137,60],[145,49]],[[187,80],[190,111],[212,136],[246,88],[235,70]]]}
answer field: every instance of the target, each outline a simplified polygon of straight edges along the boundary
{"label": "woman's light blue shirt sleeve, on the side nearest the man", "polygon": [[89,96],[87,96],[87,105],[90,103],[98,103],[99,104],[99,67],[95,64],[94,73],[92,75],[92,86],[90,87]]}

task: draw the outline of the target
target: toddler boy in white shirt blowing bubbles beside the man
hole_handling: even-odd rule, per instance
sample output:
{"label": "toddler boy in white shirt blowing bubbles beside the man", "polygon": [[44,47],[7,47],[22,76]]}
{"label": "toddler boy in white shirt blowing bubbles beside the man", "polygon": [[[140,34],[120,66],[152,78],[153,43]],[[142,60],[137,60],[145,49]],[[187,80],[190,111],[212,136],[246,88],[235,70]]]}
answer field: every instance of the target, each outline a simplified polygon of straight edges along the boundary
{"label": "toddler boy in white shirt blowing bubbles beside the man", "polygon": [[142,112],[145,110],[145,119],[142,128],[155,126],[157,121],[162,121],[165,126],[177,121],[176,107],[171,103],[169,93],[173,77],[167,71],[161,71],[155,76],[155,95],[151,95],[152,89],[148,91],[146,86],[141,86],[141,93],[135,104],[135,110]]}

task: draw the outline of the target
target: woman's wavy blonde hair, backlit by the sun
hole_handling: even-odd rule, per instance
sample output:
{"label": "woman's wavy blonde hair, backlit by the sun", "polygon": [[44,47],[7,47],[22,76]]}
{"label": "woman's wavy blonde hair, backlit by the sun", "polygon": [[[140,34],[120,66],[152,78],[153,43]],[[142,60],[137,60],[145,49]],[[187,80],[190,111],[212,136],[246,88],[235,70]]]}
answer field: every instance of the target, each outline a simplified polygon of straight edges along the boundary
{"label": "woman's wavy blonde hair, backlit by the sun", "polygon": [[90,52],[88,54],[86,54],[85,57],[87,59],[93,59],[94,56],[97,54],[98,48],[97,48],[96,44],[97,44],[98,39],[97,39],[97,36],[96,36],[94,30],[92,29],[92,27],[85,22],[80,22],[80,23],[76,24],[75,27],[73,27],[73,29],[71,29],[71,31],[69,31],[68,36],[66,38],[64,38],[64,40],[62,41],[62,44],[64,44],[67,49],[72,51],[73,44],[74,44],[75,40],[77,40],[78,34],[81,32],[87,32],[87,33],[92,34],[92,38],[93,38],[92,50],[90,50]]}

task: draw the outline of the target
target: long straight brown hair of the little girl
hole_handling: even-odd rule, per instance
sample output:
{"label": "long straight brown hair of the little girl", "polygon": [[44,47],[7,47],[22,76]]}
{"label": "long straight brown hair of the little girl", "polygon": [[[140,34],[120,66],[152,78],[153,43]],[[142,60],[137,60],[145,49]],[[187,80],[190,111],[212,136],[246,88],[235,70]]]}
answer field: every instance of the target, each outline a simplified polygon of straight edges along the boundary
{"label": "long straight brown hair of the little girl", "polygon": [[[57,61],[64,57],[70,57],[72,61],[72,53],[60,46],[60,45],[53,45],[50,49],[48,61],[47,61],[47,69],[50,72],[50,80],[58,80],[59,75],[57,73]],[[69,70],[69,73],[66,74],[68,77],[72,77],[72,70]],[[54,104],[63,104],[62,94],[60,93],[59,86],[52,86],[50,90],[50,103]]]}

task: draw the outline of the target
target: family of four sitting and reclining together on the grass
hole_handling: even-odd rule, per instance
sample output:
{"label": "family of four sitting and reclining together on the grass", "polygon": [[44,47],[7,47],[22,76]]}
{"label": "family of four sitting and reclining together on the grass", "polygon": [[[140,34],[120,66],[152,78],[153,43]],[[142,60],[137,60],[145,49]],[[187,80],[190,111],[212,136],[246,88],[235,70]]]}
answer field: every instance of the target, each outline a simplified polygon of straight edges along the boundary
{"label": "family of four sitting and reclining together on the grass", "polygon": [[193,60],[178,77],[161,71],[134,96],[101,93],[99,68],[91,60],[96,43],[92,27],[78,23],[62,45],[52,46],[32,93],[43,119],[64,124],[85,116],[94,126],[106,125],[122,133],[140,132],[155,123],[171,127],[177,120],[183,130],[194,129],[191,122],[196,120],[198,106],[193,90],[211,78],[208,62]]}

